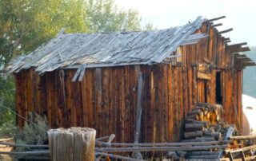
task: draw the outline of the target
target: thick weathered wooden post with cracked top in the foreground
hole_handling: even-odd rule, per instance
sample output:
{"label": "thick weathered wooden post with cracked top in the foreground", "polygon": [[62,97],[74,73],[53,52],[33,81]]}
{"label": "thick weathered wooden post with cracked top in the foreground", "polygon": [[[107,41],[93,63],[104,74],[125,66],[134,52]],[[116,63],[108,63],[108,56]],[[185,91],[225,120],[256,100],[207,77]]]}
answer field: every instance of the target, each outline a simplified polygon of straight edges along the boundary
{"label": "thick weathered wooden post with cracked top in the foreground", "polygon": [[96,131],[93,128],[57,128],[47,133],[50,160],[94,160]]}

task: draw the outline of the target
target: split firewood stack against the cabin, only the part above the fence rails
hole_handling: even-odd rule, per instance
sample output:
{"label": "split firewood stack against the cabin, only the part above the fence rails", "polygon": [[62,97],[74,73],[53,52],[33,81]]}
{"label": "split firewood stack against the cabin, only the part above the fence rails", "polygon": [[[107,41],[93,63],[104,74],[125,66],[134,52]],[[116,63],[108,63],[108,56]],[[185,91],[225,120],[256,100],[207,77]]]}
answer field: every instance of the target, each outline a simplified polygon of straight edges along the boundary
{"label": "split firewood stack against the cabin, only the part above the fence rails", "polygon": [[184,139],[182,142],[215,141],[222,138],[220,132],[221,106],[200,103],[191,112],[187,112]]}

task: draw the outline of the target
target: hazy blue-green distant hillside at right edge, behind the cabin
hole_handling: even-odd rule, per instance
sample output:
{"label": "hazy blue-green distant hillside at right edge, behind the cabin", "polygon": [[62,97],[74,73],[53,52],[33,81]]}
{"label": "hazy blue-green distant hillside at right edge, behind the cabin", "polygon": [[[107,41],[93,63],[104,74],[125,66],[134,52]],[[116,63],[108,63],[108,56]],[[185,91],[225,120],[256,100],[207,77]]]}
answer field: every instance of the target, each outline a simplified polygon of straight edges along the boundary
{"label": "hazy blue-green distant hillside at right edge, behind the cabin", "polygon": [[[251,60],[256,62],[256,47],[250,47],[250,52],[246,52],[246,55]],[[243,88],[242,92],[246,95],[256,98],[256,67],[249,66],[243,72]]]}

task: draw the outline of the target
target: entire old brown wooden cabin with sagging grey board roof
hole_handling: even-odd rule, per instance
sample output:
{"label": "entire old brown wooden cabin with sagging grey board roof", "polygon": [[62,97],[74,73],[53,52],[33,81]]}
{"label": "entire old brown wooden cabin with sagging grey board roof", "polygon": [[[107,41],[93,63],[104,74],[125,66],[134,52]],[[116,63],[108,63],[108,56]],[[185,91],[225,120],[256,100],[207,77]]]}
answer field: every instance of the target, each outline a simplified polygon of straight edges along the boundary
{"label": "entire old brown wooden cabin with sagging grey board roof", "polygon": [[179,141],[186,113],[208,102],[222,104],[223,120],[241,130],[242,69],[255,63],[241,53],[246,43],[229,45],[224,34],[232,29],[216,29],[222,18],[152,31],[60,32],[6,67],[16,112],[45,115],[50,128],[163,143]]}

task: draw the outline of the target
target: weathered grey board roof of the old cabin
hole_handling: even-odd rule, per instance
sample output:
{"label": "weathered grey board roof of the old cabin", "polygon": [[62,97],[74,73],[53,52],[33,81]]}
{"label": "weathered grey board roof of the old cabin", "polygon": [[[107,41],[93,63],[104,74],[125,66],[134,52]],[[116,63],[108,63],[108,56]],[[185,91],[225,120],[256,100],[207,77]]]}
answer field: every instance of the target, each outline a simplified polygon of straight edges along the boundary
{"label": "weathered grey board roof of the old cabin", "polygon": [[102,67],[161,63],[176,57],[180,45],[196,43],[206,34],[194,32],[205,19],[198,17],[185,26],[152,31],[116,33],[58,33],[46,44],[28,55],[22,55],[6,67],[9,73],[35,69],[45,73],[55,69],[82,65]]}

